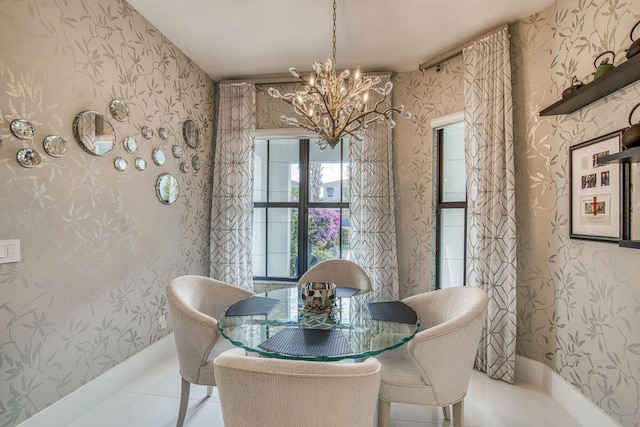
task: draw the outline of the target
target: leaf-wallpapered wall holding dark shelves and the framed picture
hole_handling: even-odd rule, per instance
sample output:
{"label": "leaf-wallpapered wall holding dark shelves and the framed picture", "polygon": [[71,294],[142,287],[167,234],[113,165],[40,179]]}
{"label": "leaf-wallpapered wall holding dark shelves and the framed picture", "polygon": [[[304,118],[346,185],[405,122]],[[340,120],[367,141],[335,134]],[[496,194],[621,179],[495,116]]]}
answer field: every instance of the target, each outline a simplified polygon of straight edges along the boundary
{"label": "leaf-wallpapered wall holding dark shelves and the framed picture", "polygon": [[538,112],[605,50],[625,60],[637,1],[560,0],[514,28],[518,352],[625,426],[640,420],[640,252],[569,239],[569,147],[627,126],[640,83],[565,116]]}

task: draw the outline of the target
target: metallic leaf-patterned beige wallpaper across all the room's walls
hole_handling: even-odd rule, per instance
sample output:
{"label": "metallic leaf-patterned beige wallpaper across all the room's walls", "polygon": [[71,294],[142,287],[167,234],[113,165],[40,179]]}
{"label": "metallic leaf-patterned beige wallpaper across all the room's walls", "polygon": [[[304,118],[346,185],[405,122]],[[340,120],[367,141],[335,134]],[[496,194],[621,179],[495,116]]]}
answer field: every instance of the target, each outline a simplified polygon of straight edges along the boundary
{"label": "metallic leaf-patterned beige wallpaper across all the room's walls", "polygon": [[[634,0],[559,0],[511,26],[517,220],[518,354],[545,363],[624,426],[640,419],[640,252],[569,239],[569,147],[627,125],[640,83],[566,116],[540,117],[572,76],[591,81],[602,51],[624,61],[640,19]],[[22,260],[0,264],[0,425],[12,426],[165,336],[164,285],[209,271],[214,82],[124,0],[0,0],[0,238],[21,239]],[[428,42],[428,41],[425,41]],[[431,120],[463,108],[462,58],[393,77],[393,141],[400,295],[433,288]],[[287,85],[283,85],[286,90]],[[282,127],[281,105],[258,86],[258,129]],[[91,156],[73,140],[83,110],[111,120],[117,146]],[[18,140],[12,120],[30,120]],[[185,119],[202,129],[197,149],[180,136]],[[142,126],[156,130],[142,138]],[[157,137],[171,129],[168,141]],[[64,137],[69,152],[44,154]],[[140,143],[145,171],[122,139]],[[171,146],[183,149],[177,159]],[[20,148],[41,152],[25,169]],[[150,162],[161,147],[167,163]],[[199,171],[180,172],[193,155]],[[117,156],[129,168],[113,167]],[[174,205],[156,199],[155,180],[173,174]]]}

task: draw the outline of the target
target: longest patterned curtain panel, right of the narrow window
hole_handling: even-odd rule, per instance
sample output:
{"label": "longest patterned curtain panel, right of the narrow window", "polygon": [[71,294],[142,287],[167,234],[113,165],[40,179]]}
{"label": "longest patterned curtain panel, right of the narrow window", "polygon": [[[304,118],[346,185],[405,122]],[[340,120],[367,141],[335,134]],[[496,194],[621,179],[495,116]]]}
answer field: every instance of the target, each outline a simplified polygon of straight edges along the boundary
{"label": "longest patterned curtain panel, right of the narrow window", "polygon": [[467,169],[467,284],[489,295],[476,366],[513,382],[516,221],[509,31],[463,52]]}

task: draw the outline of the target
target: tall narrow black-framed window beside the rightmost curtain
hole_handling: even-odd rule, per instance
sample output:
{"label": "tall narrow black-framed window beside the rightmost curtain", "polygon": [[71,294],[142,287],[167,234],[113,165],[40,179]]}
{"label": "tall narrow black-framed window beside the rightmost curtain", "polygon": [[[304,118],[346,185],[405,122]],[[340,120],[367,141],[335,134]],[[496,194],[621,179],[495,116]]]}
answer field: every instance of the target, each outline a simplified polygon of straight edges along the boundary
{"label": "tall narrow black-framed window beside the rightmost curtain", "polygon": [[462,286],[466,269],[467,192],[464,124],[437,128],[436,286]]}

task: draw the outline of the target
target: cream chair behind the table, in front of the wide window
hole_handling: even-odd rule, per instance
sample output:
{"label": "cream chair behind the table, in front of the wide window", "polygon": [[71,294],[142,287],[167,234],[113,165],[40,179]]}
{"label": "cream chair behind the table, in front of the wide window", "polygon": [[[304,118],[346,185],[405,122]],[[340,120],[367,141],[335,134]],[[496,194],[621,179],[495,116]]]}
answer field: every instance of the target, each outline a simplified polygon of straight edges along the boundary
{"label": "cream chair behind the table, in front of the wide window", "polygon": [[331,282],[340,288],[371,290],[367,272],[347,259],[330,259],[314,265],[298,280],[298,286],[309,282]]}

